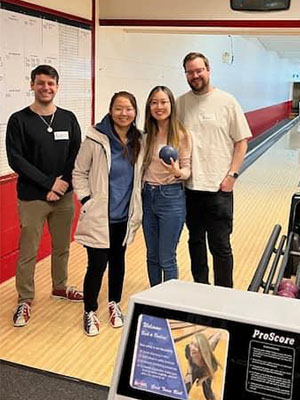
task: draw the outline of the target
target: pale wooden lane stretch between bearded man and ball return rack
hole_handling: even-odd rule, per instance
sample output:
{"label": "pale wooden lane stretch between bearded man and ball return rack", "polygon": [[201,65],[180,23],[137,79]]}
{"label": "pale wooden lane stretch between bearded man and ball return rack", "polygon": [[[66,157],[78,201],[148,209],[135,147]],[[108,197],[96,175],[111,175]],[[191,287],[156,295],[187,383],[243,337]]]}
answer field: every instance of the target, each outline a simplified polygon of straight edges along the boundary
{"label": "pale wooden lane stretch between bearded man and ball return rack", "polygon": [[235,283],[247,289],[275,224],[287,233],[291,197],[300,192],[300,124],[252,164],[235,187]]}

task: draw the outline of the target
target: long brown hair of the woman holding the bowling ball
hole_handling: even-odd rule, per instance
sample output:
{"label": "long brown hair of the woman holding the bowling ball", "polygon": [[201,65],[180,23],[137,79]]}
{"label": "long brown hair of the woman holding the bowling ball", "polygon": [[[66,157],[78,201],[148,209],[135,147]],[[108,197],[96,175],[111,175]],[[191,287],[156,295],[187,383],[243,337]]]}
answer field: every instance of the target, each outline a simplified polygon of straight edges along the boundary
{"label": "long brown hair of the woman holding the bowling ball", "polygon": [[167,144],[178,148],[179,146],[179,132],[184,134],[185,139],[188,139],[187,132],[184,126],[177,119],[175,98],[171,90],[166,86],[155,86],[149,93],[146,110],[145,110],[145,125],[144,130],[147,133],[146,149],[144,157],[144,169],[146,169],[152,160],[153,149],[154,149],[154,138],[158,132],[158,125],[155,118],[151,115],[150,103],[155,93],[162,91],[167,94],[171,104],[171,114],[169,116],[169,130],[167,136]]}

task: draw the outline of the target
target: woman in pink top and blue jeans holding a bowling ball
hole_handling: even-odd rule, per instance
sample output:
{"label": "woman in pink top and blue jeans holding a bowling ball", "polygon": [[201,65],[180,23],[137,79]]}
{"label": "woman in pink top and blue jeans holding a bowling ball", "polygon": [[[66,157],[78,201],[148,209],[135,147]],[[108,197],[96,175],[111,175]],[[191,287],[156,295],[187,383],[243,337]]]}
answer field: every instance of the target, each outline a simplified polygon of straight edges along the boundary
{"label": "woman in pink top and blue jeans holding a bowling ball", "polygon": [[[183,181],[190,176],[191,140],[176,118],[175,99],[165,86],[151,90],[145,115],[143,231],[151,286],[178,277],[176,248],[185,221]],[[160,149],[170,145],[178,159],[166,164]]]}

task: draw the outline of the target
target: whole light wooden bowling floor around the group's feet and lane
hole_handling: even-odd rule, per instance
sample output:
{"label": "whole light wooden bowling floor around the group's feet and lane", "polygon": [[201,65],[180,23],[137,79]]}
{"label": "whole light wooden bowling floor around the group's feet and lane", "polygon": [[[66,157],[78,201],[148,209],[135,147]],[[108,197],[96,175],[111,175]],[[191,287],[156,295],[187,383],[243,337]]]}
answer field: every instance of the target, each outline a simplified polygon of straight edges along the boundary
{"label": "whole light wooden bowling floor around the group's feet and lane", "polygon": [[[232,244],[235,256],[235,288],[246,290],[275,224],[286,233],[291,196],[299,192],[299,123],[249,167],[235,187]],[[178,248],[180,279],[189,272],[187,232]],[[69,282],[82,287],[86,268],[84,249],[71,245]],[[148,288],[145,246],[141,231],[127,251],[127,272],[122,300],[126,312],[130,295]],[[109,386],[122,330],[108,324],[107,280],[100,294],[101,334],[89,338],[82,331],[82,304],[50,298],[50,258],[36,268],[36,299],[30,323],[12,326],[16,305],[14,279],[1,290],[0,358],[38,369]]]}

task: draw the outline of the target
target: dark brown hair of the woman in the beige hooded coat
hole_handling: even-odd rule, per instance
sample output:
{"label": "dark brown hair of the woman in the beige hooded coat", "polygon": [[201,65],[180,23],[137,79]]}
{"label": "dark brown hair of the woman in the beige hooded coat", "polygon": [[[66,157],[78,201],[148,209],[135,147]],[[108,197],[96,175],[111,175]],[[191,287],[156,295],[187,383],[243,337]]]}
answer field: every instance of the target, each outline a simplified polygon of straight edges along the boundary
{"label": "dark brown hair of the woman in the beige hooded coat", "polygon": [[[128,154],[128,148],[131,149],[131,163],[135,164],[136,160],[138,158],[138,155],[140,153],[141,150],[141,143],[140,143],[140,138],[141,138],[141,132],[137,129],[136,127],[136,118],[137,118],[137,114],[138,114],[138,108],[137,108],[137,102],[136,102],[136,98],[134,97],[134,95],[132,93],[126,92],[125,90],[121,91],[121,92],[117,92],[115,93],[109,103],[109,114],[111,117],[111,112],[112,112],[112,108],[114,106],[115,101],[119,98],[119,97],[125,97],[126,99],[128,99],[132,105],[132,107],[135,110],[135,118],[134,121],[131,123],[131,126],[127,132],[127,145],[123,145],[124,147],[124,154],[126,157],[129,156]],[[111,118],[111,123],[113,126],[113,120]],[[114,129],[115,131],[115,129]],[[115,132],[115,134],[118,136],[118,133]],[[122,142],[121,142],[122,143]]]}

